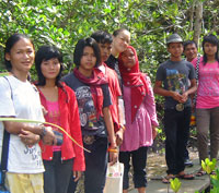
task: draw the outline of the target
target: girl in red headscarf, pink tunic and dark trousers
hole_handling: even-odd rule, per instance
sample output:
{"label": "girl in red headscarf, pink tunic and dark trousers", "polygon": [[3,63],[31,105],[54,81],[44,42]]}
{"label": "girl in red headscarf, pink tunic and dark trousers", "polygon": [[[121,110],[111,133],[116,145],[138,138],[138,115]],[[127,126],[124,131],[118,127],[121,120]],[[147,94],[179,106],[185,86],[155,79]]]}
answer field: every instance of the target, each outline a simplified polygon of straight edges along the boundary
{"label": "girl in red headscarf, pink tunic and dark trousers", "polygon": [[139,193],[146,192],[146,161],[148,146],[155,137],[158,126],[155,104],[150,79],[139,71],[135,48],[128,46],[118,57],[125,101],[126,131],[120,145],[119,161],[124,164],[123,192],[128,191],[130,157],[134,167],[134,183]]}

